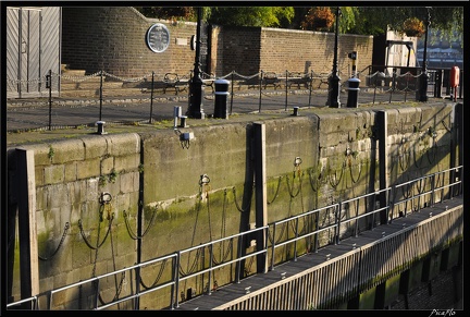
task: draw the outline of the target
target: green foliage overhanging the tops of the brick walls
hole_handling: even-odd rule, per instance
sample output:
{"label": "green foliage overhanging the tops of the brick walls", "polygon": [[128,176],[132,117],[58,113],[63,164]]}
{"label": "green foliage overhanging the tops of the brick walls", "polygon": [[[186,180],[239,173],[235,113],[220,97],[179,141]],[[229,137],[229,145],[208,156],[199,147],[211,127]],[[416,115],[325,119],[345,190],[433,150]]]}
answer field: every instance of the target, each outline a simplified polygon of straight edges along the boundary
{"label": "green foliage overhanging the tops of the brick walls", "polygon": [[[320,7],[319,7],[320,8]],[[336,7],[330,11],[336,17]],[[136,7],[147,17],[197,21],[194,7]],[[314,29],[309,25],[309,11],[317,7],[203,7],[202,20],[222,26],[261,26]],[[425,24],[430,17],[430,33],[441,39],[463,44],[463,7],[341,7],[338,29],[343,34],[382,35],[403,32],[404,22],[416,19]],[[304,25],[304,27],[302,27]],[[321,31],[334,32],[334,23]],[[431,42],[432,44],[432,42]]]}

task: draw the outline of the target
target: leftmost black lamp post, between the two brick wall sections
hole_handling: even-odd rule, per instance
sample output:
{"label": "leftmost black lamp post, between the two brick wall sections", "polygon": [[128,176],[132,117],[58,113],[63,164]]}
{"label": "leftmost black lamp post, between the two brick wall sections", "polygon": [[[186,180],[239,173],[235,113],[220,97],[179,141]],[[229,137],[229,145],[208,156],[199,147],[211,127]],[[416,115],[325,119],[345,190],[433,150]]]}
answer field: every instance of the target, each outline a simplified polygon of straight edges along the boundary
{"label": "leftmost black lamp post, between the two brick wall sections", "polygon": [[186,111],[188,118],[205,119],[206,114],[202,109],[203,84],[200,76],[200,26],[201,26],[202,8],[197,9],[197,27],[196,27],[196,58],[193,77],[189,81],[189,106]]}

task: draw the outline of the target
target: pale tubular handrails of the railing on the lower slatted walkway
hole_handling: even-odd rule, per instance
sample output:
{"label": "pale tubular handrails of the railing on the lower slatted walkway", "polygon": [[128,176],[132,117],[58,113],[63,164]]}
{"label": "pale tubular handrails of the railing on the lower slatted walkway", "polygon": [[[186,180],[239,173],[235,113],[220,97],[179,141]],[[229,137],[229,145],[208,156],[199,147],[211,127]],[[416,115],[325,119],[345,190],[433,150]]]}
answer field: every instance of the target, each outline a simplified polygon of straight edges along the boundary
{"label": "pale tubular handrails of the railing on the lower slatted walkway", "polygon": [[[301,215],[296,215],[296,216],[292,216],[292,217],[288,217],[288,218],[285,218],[285,219],[282,219],[282,220],[277,220],[277,221],[274,221],[274,222],[272,222],[272,223],[270,223],[268,225],[261,227],[261,228],[255,228],[255,229],[247,230],[247,231],[244,231],[244,232],[240,232],[240,233],[237,233],[237,234],[233,234],[233,235],[230,235],[230,236],[226,236],[226,237],[221,237],[221,239],[218,239],[218,240],[214,240],[214,241],[210,241],[210,242],[203,243],[203,244],[198,245],[198,246],[193,246],[193,247],[189,247],[189,248],[185,248],[185,249],[175,252],[175,253],[170,254],[170,255],[164,255],[164,256],[159,257],[159,258],[153,258],[153,259],[147,260],[145,263],[136,264],[136,265],[133,265],[133,266],[131,266],[128,268],[123,268],[123,269],[120,269],[120,270],[116,270],[116,271],[113,271],[113,272],[108,272],[108,273],[104,273],[104,275],[101,275],[101,276],[98,276],[98,277],[94,277],[94,278],[90,278],[90,279],[87,279],[87,280],[84,280],[84,281],[79,281],[79,282],[76,282],[76,283],[73,283],[73,284],[70,284],[70,285],[66,285],[66,286],[61,286],[61,288],[48,291],[48,292],[46,292],[44,294],[50,294],[50,301],[52,301],[52,294],[58,293],[60,291],[64,291],[64,290],[67,290],[67,289],[74,288],[74,286],[81,286],[81,285],[86,284],[86,283],[91,283],[91,282],[96,282],[96,281],[99,282],[99,280],[102,279],[102,278],[114,276],[116,273],[125,272],[125,271],[128,271],[128,270],[140,269],[140,268],[143,268],[145,266],[148,266],[150,264],[156,264],[156,263],[159,263],[159,261],[164,261],[164,260],[170,259],[170,258],[173,258],[175,260],[175,263],[177,264],[177,266],[180,266],[180,264],[181,264],[181,256],[182,256],[183,253],[189,253],[191,251],[195,251],[195,249],[198,249],[198,248],[201,248],[201,247],[202,248],[203,247],[208,247],[208,246],[211,247],[211,253],[210,253],[210,256],[211,256],[210,263],[211,263],[211,265],[210,265],[209,268],[202,268],[201,270],[199,270],[197,272],[193,272],[193,273],[186,275],[186,276],[181,276],[180,271],[178,271],[178,268],[176,268],[175,269],[175,276],[170,281],[168,281],[165,283],[159,284],[159,285],[150,288],[148,290],[138,291],[135,294],[125,296],[123,298],[118,298],[116,301],[113,301],[112,303],[108,303],[108,304],[104,304],[102,306],[95,307],[95,309],[103,309],[104,307],[110,307],[112,305],[122,303],[124,301],[128,301],[128,300],[132,300],[132,298],[138,298],[141,295],[144,295],[144,294],[147,294],[147,293],[160,290],[162,288],[175,285],[175,288],[172,289],[172,291],[171,291],[172,292],[172,294],[171,294],[171,298],[172,298],[171,300],[172,301],[171,307],[174,308],[174,306],[173,306],[174,303],[176,304],[176,306],[178,305],[178,300],[177,300],[177,294],[178,294],[177,290],[178,290],[178,288],[177,288],[177,284],[178,284],[178,282],[181,282],[181,281],[183,281],[185,279],[188,279],[188,278],[191,278],[191,277],[197,277],[199,275],[205,275],[207,272],[209,272],[209,277],[210,277],[211,276],[210,272],[212,272],[215,269],[219,269],[219,268],[221,268],[223,266],[226,266],[226,265],[230,265],[230,264],[233,264],[233,263],[240,261],[243,259],[246,259],[246,258],[249,258],[249,257],[252,257],[252,256],[257,256],[259,254],[263,254],[263,253],[268,254],[268,252],[270,249],[272,251],[272,258],[274,258],[274,251],[275,251],[276,247],[281,247],[283,245],[290,244],[290,243],[296,243],[298,240],[301,240],[301,239],[305,239],[305,237],[309,237],[309,236],[318,234],[318,233],[320,233],[320,232],[322,232],[324,230],[334,229],[334,232],[335,232],[335,235],[336,235],[335,239],[334,239],[334,241],[335,241],[335,244],[337,244],[341,241],[339,228],[338,227],[341,224],[343,224],[345,221],[357,221],[358,219],[360,219],[362,217],[374,216],[376,212],[384,211],[384,210],[386,210],[388,208],[393,208],[394,206],[396,206],[398,204],[406,203],[407,200],[409,200],[409,198],[404,198],[401,200],[395,202],[394,199],[396,197],[394,197],[394,195],[388,195],[388,202],[385,204],[385,206],[380,206],[379,208],[374,207],[374,209],[371,210],[370,212],[352,216],[352,217],[350,217],[350,218],[348,218],[346,220],[343,220],[343,222],[338,220],[341,218],[341,211],[342,211],[341,210],[341,206],[342,206],[342,204],[346,204],[346,203],[349,204],[349,203],[352,203],[352,202],[356,202],[358,199],[362,199],[364,197],[369,197],[369,196],[372,196],[372,195],[376,196],[379,193],[383,193],[383,192],[386,192],[386,193],[389,193],[389,192],[396,193],[396,190],[398,187],[403,186],[404,184],[417,183],[417,182],[420,182],[420,181],[426,180],[426,179],[433,179],[433,180],[435,180],[436,175],[441,175],[441,174],[444,174],[444,173],[447,173],[447,172],[460,172],[460,170],[462,170],[462,169],[463,169],[463,166],[458,166],[458,167],[446,169],[444,171],[438,171],[438,172],[435,172],[435,173],[432,173],[432,174],[420,176],[420,178],[417,178],[417,179],[411,180],[411,181],[407,181],[407,182],[404,182],[404,183],[400,183],[400,184],[395,184],[395,185],[388,186],[386,188],[382,188],[380,191],[375,191],[373,193],[369,193],[369,194],[366,194],[366,195],[360,195],[360,196],[357,196],[357,197],[354,197],[354,198],[346,199],[344,202],[334,203],[334,204],[329,205],[329,206],[324,206],[324,207],[321,207],[321,208],[318,208],[318,209],[309,210],[309,211],[302,212]],[[419,195],[413,196],[413,198],[421,197],[421,196],[429,195],[429,194],[434,195],[434,193],[436,191],[442,191],[444,188],[452,187],[452,186],[461,186],[462,185],[461,178],[458,178],[458,179],[455,178],[453,180],[449,176],[446,181],[448,182],[447,184],[444,184],[444,182],[440,186],[435,186],[433,184],[431,191],[423,191],[422,193],[419,193]],[[461,195],[461,187],[459,188],[458,193],[459,193],[458,195]],[[449,195],[454,196],[453,193],[449,193]],[[456,195],[456,196],[458,196],[458,195]],[[441,202],[443,202],[443,200],[444,199],[442,199]],[[432,204],[434,204],[434,202],[432,202]],[[308,216],[310,216],[312,214],[320,212],[320,211],[329,209],[329,208],[336,208],[335,221],[333,223],[329,223],[326,227],[323,227],[323,228],[320,228],[320,229],[317,229],[314,231],[310,231],[310,232],[307,232],[307,233],[302,233],[302,234],[298,234],[298,232],[297,232],[298,230],[296,230],[296,234],[295,234],[294,237],[290,237],[290,239],[287,237],[286,241],[283,241],[281,243],[276,243],[275,242],[275,236],[274,235],[275,235],[275,228],[276,228],[276,225],[280,225],[280,224],[283,224],[283,223],[286,223],[286,222],[289,222],[289,221],[296,221],[296,223],[298,224],[298,219],[299,218],[301,218],[301,217],[308,217]],[[338,217],[338,214],[339,214],[339,217]],[[395,220],[397,218],[400,218],[400,217],[401,216],[396,217],[396,218],[391,218],[388,220],[388,223],[392,223],[393,220]],[[271,228],[272,228],[272,230],[271,230]],[[296,227],[296,228],[298,229],[298,227]],[[268,236],[269,231],[273,232],[272,239],[271,240],[267,239],[267,243],[265,243],[265,245],[262,246],[261,249],[257,249],[256,252],[252,252],[252,253],[246,254],[246,255],[237,255],[235,259],[231,259],[228,261],[224,261],[222,264],[212,266],[212,264],[213,264],[213,257],[212,257],[212,246],[213,246],[213,244],[220,243],[220,242],[224,242],[224,241],[228,241],[228,240],[233,240],[233,239],[239,237],[239,236],[242,236],[242,237],[243,236],[247,236],[247,235],[250,235],[250,234],[252,234],[255,232],[258,232],[258,231],[265,232],[267,236]],[[356,232],[356,234],[357,234],[357,232]],[[269,241],[271,241],[271,244],[268,243]],[[294,258],[296,258],[296,257],[297,257],[297,251],[295,248]],[[273,269],[273,268],[274,268],[274,263],[272,261],[271,269]],[[136,283],[139,283],[139,279],[136,279],[136,280],[137,280]],[[139,290],[139,289],[137,289],[137,290]],[[210,286],[208,286],[208,294],[210,294],[210,292],[211,292]],[[10,304],[7,305],[7,308],[14,307],[16,305],[25,304],[25,303],[28,303],[28,302],[32,303],[32,304],[34,304],[34,307],[37,308],[38,296],[44,295],[44,294],[39,294],[39,295],[32,296],[32,297],[28,297],[28,298],[23,298],[21,301],[14,302],[14,303],[10,303]],[[173,302],[174,300],[175,300],[175,302]]]}

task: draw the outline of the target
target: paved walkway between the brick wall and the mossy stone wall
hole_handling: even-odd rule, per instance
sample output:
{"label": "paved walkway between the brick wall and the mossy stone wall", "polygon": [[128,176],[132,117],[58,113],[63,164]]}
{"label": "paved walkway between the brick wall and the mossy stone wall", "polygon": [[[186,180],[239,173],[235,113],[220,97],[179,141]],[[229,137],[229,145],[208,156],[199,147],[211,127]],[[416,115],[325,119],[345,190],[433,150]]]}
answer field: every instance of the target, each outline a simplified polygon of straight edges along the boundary
{"label": "paved walkway between the brick wall and the mossy stone wall", "polygon": [[[347,107],[348,94],[339,95],[341,108]],[[403,93],[360,92],[358,105],[389,103],[399,101],[415,101],[413,94]],[[430,101],[443,99],[431,98]],[[293,111],[294,107],[326,107],[327,92],[316,90],[309,95],[308,90],[293,90],[289,95],[285,90],[271,90],[260,94],[259,90],[235,93],[227,97],[227,111],[234,113],[262,112],[267,110]],[[13,99],[7,102],[7,132],[40,131],[77,126],[95,126],[97,121],[109,124],[123,124],[135,122],[153,122],[173,119],[174,107],[182,108],[185,114],[188,108],[186,94],[178,96],[166,94],[154,97],[129,96],[99,99],[84,98],[48,98]],[[214,113],[213,95],[207,95],[202,101],[202,112],[206,118]]]}

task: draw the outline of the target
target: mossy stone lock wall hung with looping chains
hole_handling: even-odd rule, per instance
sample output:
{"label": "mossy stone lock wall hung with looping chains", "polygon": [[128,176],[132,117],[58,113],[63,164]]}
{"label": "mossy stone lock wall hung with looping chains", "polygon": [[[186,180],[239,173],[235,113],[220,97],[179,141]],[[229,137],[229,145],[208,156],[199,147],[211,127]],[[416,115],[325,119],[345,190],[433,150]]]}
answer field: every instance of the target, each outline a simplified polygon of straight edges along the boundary
{"label": "mossy stone lock wall hung with looping chains", "polygon": [[[449,105],[386,111],[391,183],[449,167],[452,111]],[[269,223],[378,188],[376,112],[341,112],[262,122]],[[40,291],[248,230],[255,222],[253,124],[190,127],[195,138],[189,144],[175,131],[161,130],[23,146],[35,159],[37,242],[45,258],[39,261]],[[14,156],[15,149],[9,149],[12,190],[21,168]],[[405,164],[406,157],[413,163]],[[14,218],[17,196],[10,193],[9,216]],[[323,236],[321,244],[329,239]],[[16,254],[10,259],[12,295],[20,298],[20,251],[14,241],[10,245]],[[276,263],[286,256],[276,255]],[[189,270],[190,264],[182,268]],[[253,272],[255,267],[246,267],[246,275]],[[158,276],[143,271],[143,283],[149,285]],[[219,285],[233,282],[223,271],[215,279]],[[188,281],[182,292],[200,294],[205,286]],[[114,288],[110,279],[103,296],[111,297]],[[127,282],[122,290],[131,288]],[[169,305],[168,295],[151,293],[141,305],[160,309]],[[76,294],[70,296],[54,305],[76,308]]]}

